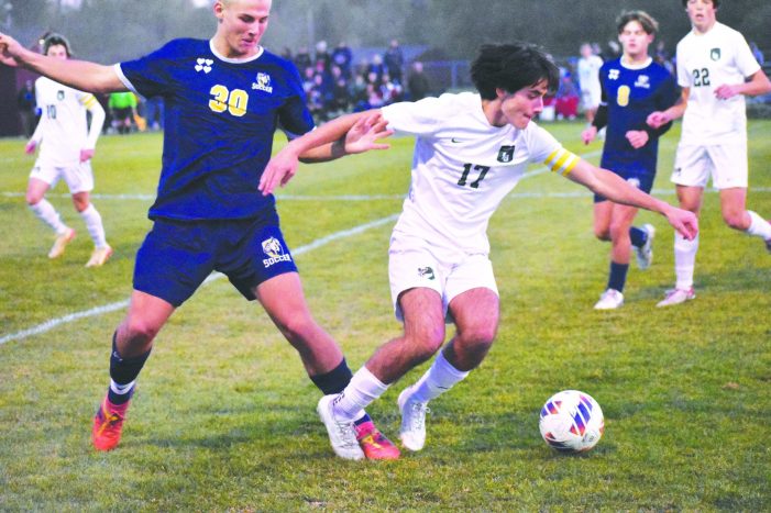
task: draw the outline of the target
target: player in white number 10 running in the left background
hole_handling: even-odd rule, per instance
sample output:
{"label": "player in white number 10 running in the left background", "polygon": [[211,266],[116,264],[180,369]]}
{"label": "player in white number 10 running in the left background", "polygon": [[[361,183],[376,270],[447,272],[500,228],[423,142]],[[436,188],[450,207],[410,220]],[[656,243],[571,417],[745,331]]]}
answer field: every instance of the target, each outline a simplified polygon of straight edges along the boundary
{"label": "player in white number 10 running in the left background", "polygon": [[[45,55],[69,58],[69,44],[58,34],[46,37]],[[58,258],[67,244],[75,238],[75,230],[67,226],[45,193],[64,179],[73,197],[75,209],[80,213],[93,241],[93,253],[86,267],[101,266],[112,255],[104,238],[101,215],[90,202],[93,189],[91,157],[97,138],[104,123],[104,110],[93,94],[41,77],[35,81],[37,108],[41,120],[26,144],[25,152],[32,154],[40,146],[26,189],[26,203],[35,215],[56,233],[56,241],[48,258]],[[91,113],[89,129],[86,111]]]}

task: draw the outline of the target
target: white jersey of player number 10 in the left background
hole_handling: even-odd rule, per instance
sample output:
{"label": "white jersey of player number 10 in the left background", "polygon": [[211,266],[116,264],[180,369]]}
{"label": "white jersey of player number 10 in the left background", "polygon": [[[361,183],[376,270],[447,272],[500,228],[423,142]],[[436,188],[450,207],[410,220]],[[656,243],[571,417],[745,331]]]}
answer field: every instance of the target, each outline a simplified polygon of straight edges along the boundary
{"label": "white jersey of player number 10 in the left background", "polygon": [[[38,165],[65,166],[80,161],[81,149],[93,149],[104,122],[104,111],[90,92],[41,77],[35,81],[41,120],[32,135],[40,144]],[[90,131],[86,110],[93,114]],[[42,144],[41,144],[42,143]]]}

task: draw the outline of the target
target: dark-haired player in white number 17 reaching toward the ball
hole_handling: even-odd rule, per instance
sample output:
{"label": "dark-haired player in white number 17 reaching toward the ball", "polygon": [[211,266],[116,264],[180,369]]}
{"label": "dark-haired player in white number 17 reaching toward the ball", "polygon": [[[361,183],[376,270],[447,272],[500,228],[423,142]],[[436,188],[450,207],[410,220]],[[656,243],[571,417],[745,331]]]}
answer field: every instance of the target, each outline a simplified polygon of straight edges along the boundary
{"label": "dark-haired player in white number 17 reaching toward the ball", "polygon": [[[404,332],[381,346],[342,393],[319,402],[332,443],[356,412],[438,353],[428,371],[398,398],[404,446],[423,447],[428,402],[477,367],[495,338],[499,308],[487,222],[530,163],[543,163],[612,201],[659,212],[683,236],[695,236],[693,213],[582,160],[532,122],[559,77],[537,47],[486,45],[472,64],[478,92],[339,118],[293,141],[268,164],[260,186],[266,194],[294,176],[298,155],[338,140],[362,118],[382,115],[389,129],[417,137],[409,196],[389,248],[392,299]],[[557,249],[544,248],[544,254],[549,250]],[[455,327],[447,344],[445,322]]]}

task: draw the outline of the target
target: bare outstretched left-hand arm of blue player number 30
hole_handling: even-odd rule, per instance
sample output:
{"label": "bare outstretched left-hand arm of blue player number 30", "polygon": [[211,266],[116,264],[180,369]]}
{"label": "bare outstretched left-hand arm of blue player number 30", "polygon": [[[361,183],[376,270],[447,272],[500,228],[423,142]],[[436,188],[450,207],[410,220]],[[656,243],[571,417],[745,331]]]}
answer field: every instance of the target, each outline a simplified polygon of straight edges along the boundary
{"label": "bare outstretched left-hand arm of blue player number 30", "polygon": [[57,59],[24,48],[13,37],[0,33],[0,63],[24,67],[57,82],[90,92],[126,91],[112,66],[87,60]]}

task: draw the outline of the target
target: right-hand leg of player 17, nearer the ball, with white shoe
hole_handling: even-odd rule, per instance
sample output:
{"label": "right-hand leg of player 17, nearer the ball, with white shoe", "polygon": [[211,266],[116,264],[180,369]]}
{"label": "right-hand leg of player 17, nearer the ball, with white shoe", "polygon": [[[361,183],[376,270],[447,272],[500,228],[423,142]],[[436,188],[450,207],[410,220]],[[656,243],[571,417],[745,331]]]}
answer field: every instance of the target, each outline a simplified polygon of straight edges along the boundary
{"label": "right-hand leg of player 17, nearer the ball, with white shoe", "polygon": [[405,447],[420,450],[426,445],[428,402],[449,391],[478,367],[487,355],[498,328],[498,295],[489,289],[463,292],[450,302],[458,328],[420,379],[401,391],[399,436]]}

